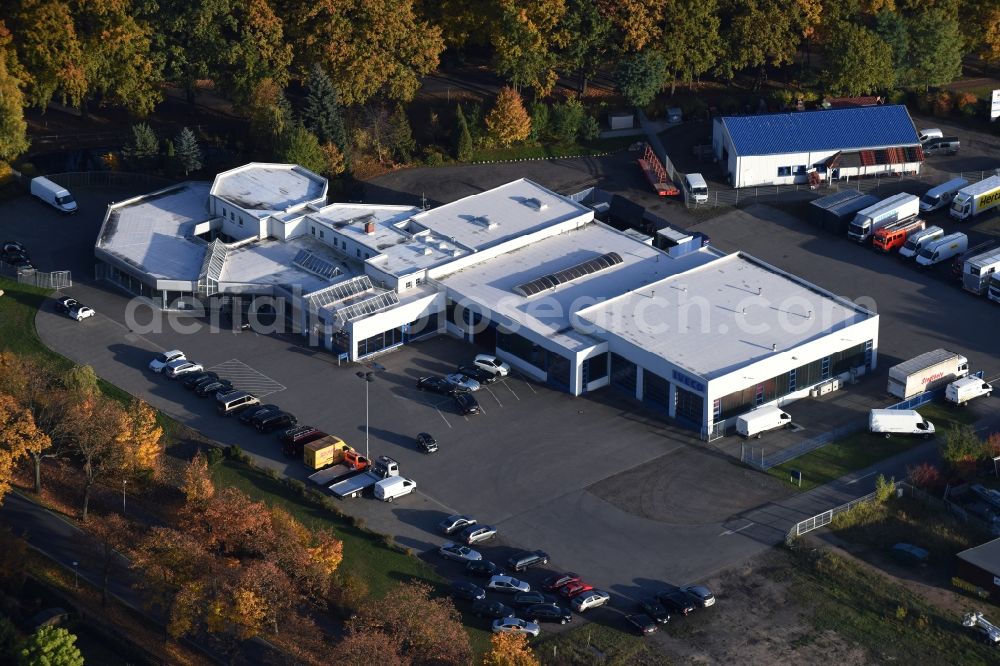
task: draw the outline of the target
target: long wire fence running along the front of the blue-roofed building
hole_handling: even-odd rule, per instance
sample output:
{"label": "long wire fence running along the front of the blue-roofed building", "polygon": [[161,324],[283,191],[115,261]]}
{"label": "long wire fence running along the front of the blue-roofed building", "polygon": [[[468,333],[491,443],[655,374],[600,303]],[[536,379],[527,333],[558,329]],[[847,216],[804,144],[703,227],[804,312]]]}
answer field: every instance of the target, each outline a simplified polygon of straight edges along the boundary
{"label": "long wire fence running along the front of the blue-roofed building", "polygon": [[[989,178],[995,173],[996,170],[962,171],[960,173],[945,174],[943,179],[946,181],[951,180],[952,178],[964,178],[970,183],[977,183],[984,178]],[[709,190],[708,201],[702,203],[695,203],[689,196],[686,189],[682,189],[682,192],[684,193],[684,202],[687,207],[697,209],[715,208],[718,206],[736,207],[740,203],[751,203],[761,200],[795,199],[796,197],[804,199],[809,193],[826,195],[833,192],[839,192],[840,190],[860,190],[861,192],[870,192],[878,189],[879,187],[886,185],[898,185],[905,182],[930,184],[943,181],[940,173],[873,174],[871,176],[863,176],[860,178],[823,183],[818,190],[811,188],[808,183],[799,183],[796,185],[762,185],[759,187],[744,187],[740,189],[727,190]]]}

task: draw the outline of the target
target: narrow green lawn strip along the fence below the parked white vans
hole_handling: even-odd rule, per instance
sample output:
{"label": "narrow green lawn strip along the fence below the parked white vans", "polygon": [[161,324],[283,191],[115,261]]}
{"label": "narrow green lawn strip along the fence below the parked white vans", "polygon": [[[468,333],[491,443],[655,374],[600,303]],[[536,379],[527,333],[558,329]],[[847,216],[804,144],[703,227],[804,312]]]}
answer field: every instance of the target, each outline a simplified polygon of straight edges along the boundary
{"label": "narrow green lawn strip along the fence below the parked white vans", "polygon": [[[968,410],[961,407],[937,403],[924,405],[917,411],[934,424],[939,438],[943,437],[944,431],[952,425],[971,423],[975,418]],[[920,437],[890,437],[886,439],[869,432],[858,432],[777,467],[772,467],[767,473],[790,483],[792,470],[799,470],[802,472],[801,490],[812,490],[835,481],[845,474],[864,469],[880,460],[908,451],[923,442],[924,440]],[[897,479],[897,481],[902,480]]]}

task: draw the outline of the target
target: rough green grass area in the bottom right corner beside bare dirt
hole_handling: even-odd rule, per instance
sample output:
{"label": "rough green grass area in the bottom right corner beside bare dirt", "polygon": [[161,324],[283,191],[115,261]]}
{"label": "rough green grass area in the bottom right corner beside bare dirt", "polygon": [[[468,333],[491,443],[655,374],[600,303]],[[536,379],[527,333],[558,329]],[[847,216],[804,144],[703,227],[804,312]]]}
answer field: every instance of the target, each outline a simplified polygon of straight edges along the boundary
{"label": "rough green grass area in the bottom right corner beside bare dirt", "polygon": [[868,650],[871,663],[995,664],[996,648],[975,639],[962,618],[927,603],[878,571],[829,551],[791,554],[792,593],[831,630]]}

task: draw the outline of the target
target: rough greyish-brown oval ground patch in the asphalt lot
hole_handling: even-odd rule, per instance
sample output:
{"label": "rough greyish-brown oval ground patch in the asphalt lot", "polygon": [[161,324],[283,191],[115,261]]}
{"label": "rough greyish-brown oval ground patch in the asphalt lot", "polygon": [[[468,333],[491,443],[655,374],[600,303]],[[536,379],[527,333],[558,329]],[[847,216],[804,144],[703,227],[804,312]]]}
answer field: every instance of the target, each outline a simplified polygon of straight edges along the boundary
{"label": "rough greyish-brown oval ground patch in the asphalt lot", "polygon": [[681,446],[588,490],[622,511],[671,525],[723,522],[789,494],[773,477],[724,454]]}

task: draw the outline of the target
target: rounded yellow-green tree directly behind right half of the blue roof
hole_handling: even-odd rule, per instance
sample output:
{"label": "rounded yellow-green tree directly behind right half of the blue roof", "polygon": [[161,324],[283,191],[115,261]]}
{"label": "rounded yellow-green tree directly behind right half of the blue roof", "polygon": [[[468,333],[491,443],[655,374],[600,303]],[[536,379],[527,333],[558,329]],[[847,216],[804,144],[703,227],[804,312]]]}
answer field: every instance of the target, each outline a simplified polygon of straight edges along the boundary
{"label": "rounded yellow-green tree directly behind right half of the blue roof", "polygon": [[826,47],[823,78],[835,95],[866,95],[892,88],[892,49],[874,32],[842,23]]}

